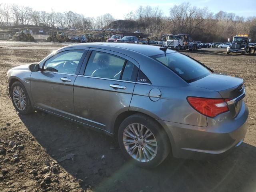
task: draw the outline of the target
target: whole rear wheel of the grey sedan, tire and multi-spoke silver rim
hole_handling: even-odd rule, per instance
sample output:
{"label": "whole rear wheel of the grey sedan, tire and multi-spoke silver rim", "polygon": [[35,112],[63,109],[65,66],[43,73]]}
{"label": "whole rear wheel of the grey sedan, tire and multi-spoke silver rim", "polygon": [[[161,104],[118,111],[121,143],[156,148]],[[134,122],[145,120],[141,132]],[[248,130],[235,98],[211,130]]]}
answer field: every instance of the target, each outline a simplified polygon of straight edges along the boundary
{"label": "whole rear wheel of the grey sedan, tire and multi-spoke silver rim", "polygon": [[170,142],[163,128],[152,118],[134,114],[118,130],[118,143],[124,156],[134,164],[158,166],[170,152]]}

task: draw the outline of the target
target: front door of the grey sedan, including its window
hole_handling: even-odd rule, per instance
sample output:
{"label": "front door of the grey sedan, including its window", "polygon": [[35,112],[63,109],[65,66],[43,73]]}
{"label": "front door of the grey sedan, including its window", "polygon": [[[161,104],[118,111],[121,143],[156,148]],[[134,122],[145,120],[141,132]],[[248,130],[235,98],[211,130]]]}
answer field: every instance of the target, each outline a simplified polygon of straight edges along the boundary
{"label": "front door of the grey sedan, including its window", "polygon": [[75,117],[73,85],[87,50],[62,50],[46,58],[40,71],[32,72],[31,94],[35,108]]}

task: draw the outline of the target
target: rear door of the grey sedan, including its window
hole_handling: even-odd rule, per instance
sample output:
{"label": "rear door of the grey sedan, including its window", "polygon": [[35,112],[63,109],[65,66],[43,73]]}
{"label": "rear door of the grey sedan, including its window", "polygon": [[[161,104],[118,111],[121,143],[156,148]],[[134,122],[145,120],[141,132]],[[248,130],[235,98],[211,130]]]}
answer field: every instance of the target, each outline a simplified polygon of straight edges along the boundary
{"label": "rear door of the grey sedan, including its window", "polygon": [[[86,68],[74,83],[74,107],[80,122],[112,133],[115,118],[128,111],[138,63],[108,50],[90,48]],[[85,61],[86,62],[86,61]]]}

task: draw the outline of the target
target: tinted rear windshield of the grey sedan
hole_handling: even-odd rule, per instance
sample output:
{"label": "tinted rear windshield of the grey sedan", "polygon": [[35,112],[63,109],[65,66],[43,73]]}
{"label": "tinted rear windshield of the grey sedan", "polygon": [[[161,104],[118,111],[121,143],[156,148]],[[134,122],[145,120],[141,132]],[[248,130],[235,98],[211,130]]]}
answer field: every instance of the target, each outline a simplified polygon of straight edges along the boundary
{"label": "tinted rear windshield of the grey sedan", "polygon": [[170,68],[188,83],[204,78],[212,73],[202,64],[183,54],[169,53],[156,55],[153,58]]}

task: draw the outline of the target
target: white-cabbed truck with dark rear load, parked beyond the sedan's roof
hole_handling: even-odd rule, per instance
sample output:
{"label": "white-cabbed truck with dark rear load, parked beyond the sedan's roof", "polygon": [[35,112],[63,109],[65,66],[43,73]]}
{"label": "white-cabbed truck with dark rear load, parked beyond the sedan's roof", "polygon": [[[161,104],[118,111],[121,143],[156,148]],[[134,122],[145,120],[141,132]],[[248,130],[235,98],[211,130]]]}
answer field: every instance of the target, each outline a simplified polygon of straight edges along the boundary
{"label": "white-cabbed truck with dark rear load, parked beyond the sedan's roof", "polygon": [[193,40],[189,34],[163,34],[163,47],[170,44],[169,48],[179,50],[196,50],[199,49],[199,43]]}

